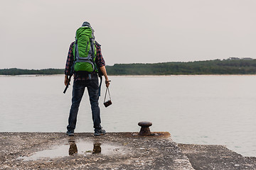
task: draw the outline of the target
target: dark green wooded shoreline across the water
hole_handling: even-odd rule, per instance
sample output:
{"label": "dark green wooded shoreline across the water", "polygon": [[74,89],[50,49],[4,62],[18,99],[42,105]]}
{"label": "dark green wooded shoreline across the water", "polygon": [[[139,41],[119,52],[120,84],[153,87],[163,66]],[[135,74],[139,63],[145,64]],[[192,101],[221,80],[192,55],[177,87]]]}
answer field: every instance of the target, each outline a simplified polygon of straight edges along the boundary
{"label": "dark green wooded shoreline across the water", "polygon": [[[106,66],[109,75],[180,75],[180,74],[256,74],[256,60],[229,58],[197,62],[155,64],[114,64]],[[64,74],[64,69],[0,69],[0,75]]]}

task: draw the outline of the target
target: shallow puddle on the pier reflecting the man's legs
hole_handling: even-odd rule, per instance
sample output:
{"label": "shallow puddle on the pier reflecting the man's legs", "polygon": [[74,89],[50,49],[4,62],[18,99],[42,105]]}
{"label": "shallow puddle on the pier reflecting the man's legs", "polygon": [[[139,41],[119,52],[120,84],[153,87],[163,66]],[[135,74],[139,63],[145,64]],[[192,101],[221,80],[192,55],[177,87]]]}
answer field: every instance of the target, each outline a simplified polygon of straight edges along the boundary
{"label": "shallow puddle on the pier reflecting the man's legs", "polygon": [[66,145],[55,145],[50,149],[36,152],[29,157],[18,157],[17,159],[23,159],[23,161],[33,161],[43,158],[53,159],[57,157],[68,157],[77,154],[84,156],[89,154],[124,154],[124,147],[92,141],[70,141]]}

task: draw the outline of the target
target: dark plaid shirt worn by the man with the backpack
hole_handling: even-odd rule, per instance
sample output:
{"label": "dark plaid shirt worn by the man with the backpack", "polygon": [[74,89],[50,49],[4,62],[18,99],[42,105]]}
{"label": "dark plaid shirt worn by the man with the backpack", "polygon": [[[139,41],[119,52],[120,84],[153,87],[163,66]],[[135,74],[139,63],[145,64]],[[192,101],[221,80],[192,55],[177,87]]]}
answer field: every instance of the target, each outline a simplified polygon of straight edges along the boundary
{"label": "dark plaid shirt worn by the man with the backpack", "polygon": [[[96,41],[95,41],[96,42]],[[75,42],[72,42],[70,44],[70,48],[68,50],[68,58],[67,58],[67,62],[65,64],[65,75],[70,75],[70,69],[73,65],[74,62],[74,55],[73,55],[73,45]],[[98,68],[105,66],[105,60],[102,57],[102,53],[101,53],[101,48],[100,48],[100,44],[98,44],[97,42],[95,43],[96,46],[96,58],[95,58],[95,63],[97,65]],[[96,72],[92,72],[92,74],[96,74]],[[74,81],[77,80],[86,80],[88,79],[88,74],[74,74]]]}

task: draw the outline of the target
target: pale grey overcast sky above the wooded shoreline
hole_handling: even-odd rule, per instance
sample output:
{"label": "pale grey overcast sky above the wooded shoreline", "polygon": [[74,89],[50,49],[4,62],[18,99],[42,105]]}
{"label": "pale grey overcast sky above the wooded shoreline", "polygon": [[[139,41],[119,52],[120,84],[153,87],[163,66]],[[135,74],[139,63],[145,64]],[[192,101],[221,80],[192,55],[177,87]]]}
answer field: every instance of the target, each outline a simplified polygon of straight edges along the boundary
{"label": "pale grey overcast sky above the wooded shoreline", "polygon": [[0,69],[64,68],[83,21],[106,64],[256,58],[255,0],[1,0]]}

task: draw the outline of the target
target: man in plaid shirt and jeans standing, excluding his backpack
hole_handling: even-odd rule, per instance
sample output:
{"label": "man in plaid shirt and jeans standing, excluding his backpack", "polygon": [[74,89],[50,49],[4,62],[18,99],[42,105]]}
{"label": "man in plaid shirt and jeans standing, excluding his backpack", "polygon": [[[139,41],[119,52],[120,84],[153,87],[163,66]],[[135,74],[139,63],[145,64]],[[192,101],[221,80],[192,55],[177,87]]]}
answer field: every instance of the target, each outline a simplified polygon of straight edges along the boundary
{"label": "man in plaid shirt and jeans standing, excluding his backpack", "polygon": [[[82,23],[83,26],[90,26],[90,23],[84,22]],[[73,45],[75,42],[72,42],[70,44],[70,48],[68,50],[68,59],[65,65],[65,86],[68,85],[68,76],[71,72],[71,67],[73,66],[74,62],[74,55],[73,55]],[[100,69],[102,74],[105,77],[105,84],[106,86],[110,86],[110,80],[107,77],[107,72],[105,69],[105,60],[102,57],[100,44],[95,41],[95,47],[96,47],[96,58],[95,58],[95,64],[97,65],[97,68]],[[67,135],[73,136],[75,125],[77,121],[77,115],[78,115],[78,108],[80,106],[80,101],[82,99],[82,95],[84,94],[85,87],[87,87],[87,91],[90,97],[90,105],[92,110],[92,120],[93,120],[93,128],[95,128],[95,136],[98,135],[105,135],[106,131],[102,129],[102,126],[100,125],[100,107],[99,107],[99,81],[97,77],[97,73],[94,71],[92,73],[88,72],[82,72],[74,73],[74,82],[73,82],[73,97],[72,97],[72,106],[70,108],[70,115],[68,118],[68,131],[66,132]]]}

